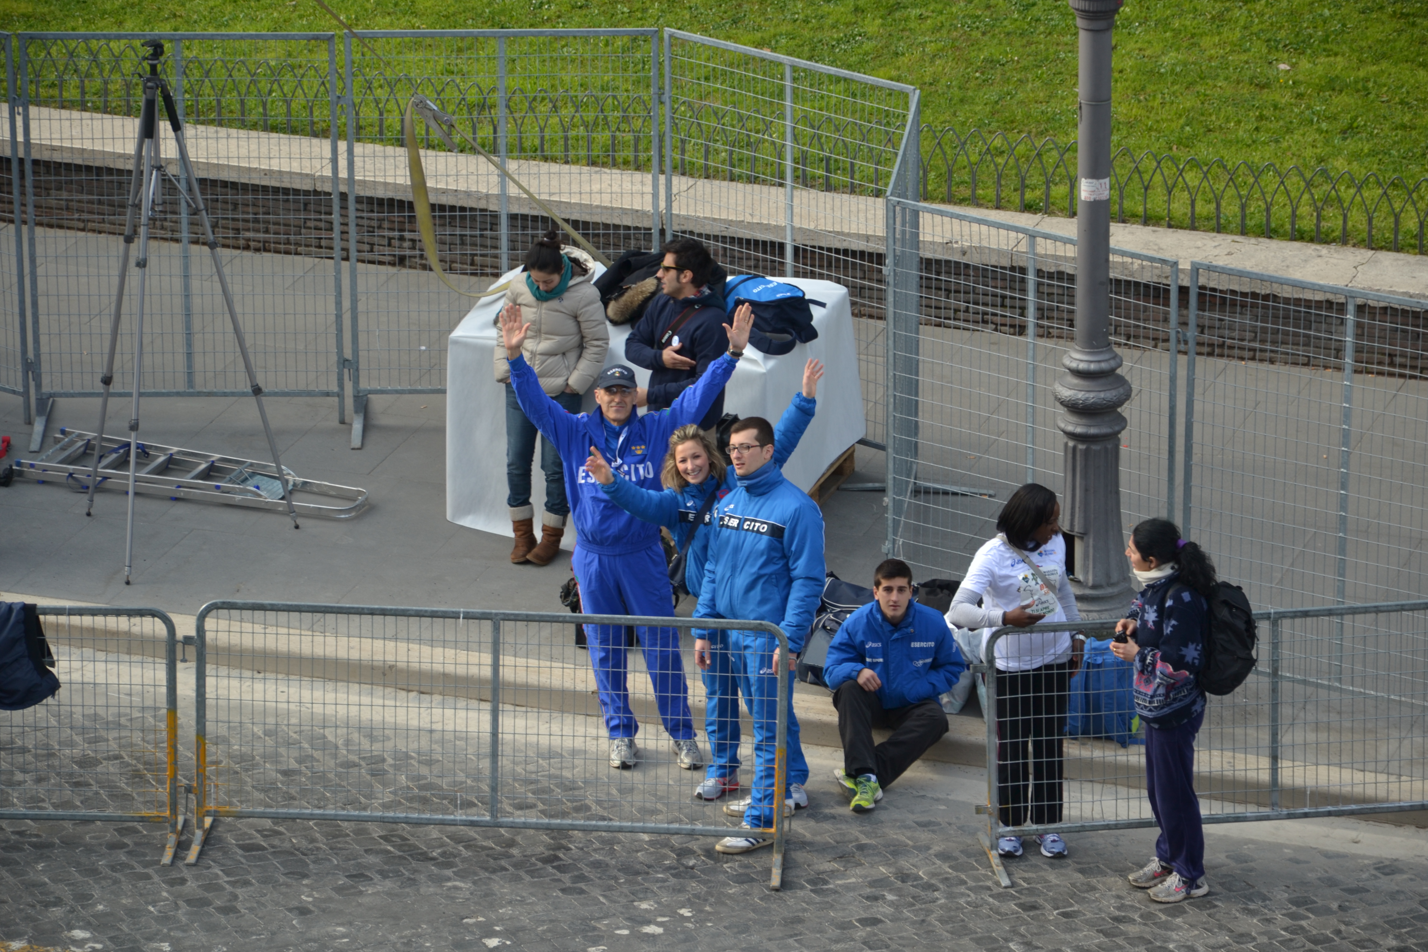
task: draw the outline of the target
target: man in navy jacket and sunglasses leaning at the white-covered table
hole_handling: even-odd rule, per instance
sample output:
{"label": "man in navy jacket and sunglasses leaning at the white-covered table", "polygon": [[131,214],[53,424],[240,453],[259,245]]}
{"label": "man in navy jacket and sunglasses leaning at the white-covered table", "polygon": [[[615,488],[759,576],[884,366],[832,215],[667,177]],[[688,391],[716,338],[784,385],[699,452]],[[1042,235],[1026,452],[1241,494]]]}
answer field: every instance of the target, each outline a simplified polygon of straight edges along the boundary
{"label": "man in navy jacket and sunglasses leaning at the white-covered table", "polygon": [[[673,407],[725,347],[723,268],[695,238],[675,238],[660,250],[660,293],[625,338],[625,360],[650,371],[651,410]],[[723,415],[720,391],[700,430],[713,430]]]}

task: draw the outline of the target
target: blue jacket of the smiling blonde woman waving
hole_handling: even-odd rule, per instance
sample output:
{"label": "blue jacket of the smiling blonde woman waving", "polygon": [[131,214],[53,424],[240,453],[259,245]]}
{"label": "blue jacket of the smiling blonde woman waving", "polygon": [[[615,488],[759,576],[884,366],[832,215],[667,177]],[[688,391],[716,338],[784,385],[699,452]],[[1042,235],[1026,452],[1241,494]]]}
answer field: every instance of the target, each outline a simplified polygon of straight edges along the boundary
{"label": "blue jacket of the smiling blonde woman waving", "polygon": [[[783,467],[788,462],[788,457],[798,448],[798,441],[803,440],[804,431],[813,422],[815,408],[815,400],[808,400],[801,393],[794,394],[793,402],[788,404],[784,415],[778,420],[778,425],[774,427],[773,465]],[[698,515],[700,507],[704,505],[708,494],[718,492],[718,498],[723,500],[738,488],[738,477],[734,474],[734,468],[730,467],[724,472],[724,482],[717,482],[711,474],[701,485],[655,491],[641,488],[615,474],[614,482],[600,488],[621,510],[637,515],[645,522],[654,522],[670,530],[675,548],[683,550],[690,538],[690,532],[694,532],[694,517]],[[704,588],[704,564],[708,561],[710,537],[713,535],[708,527],[713,522],[714,511],[710,510],[704,515],[704,525],[695,532],[694,542],[690,545],[690,552],[684,559],[684,587],[695,598],[698,598],[700,591]]]}

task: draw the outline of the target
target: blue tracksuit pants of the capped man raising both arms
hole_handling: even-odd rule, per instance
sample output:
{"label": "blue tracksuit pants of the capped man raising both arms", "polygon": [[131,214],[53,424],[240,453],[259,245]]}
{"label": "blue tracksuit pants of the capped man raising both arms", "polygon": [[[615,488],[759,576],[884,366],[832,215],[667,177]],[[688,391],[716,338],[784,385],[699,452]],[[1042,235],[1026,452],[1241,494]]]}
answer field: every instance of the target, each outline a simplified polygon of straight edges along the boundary
{"label": "blue tracksuit pants of the capped man raising both arms", "polygon": [[[591,615],[674,614],[670,575],[658,542],[648,550],[617,557],[588,554],[577,545],[571,568],[580,579],[580,607]],[[644,665],[650,671],[654,702],[664,729],[675,741],[691,739],[694,718],[690,715],[684,661],[680,658],[680,632],[674,628],[641,627],[635,628],[635,635],[644,649]],[[640,725],[630,709],[630,691],[625,685],[624,628],[585,625],[585,642],[610,738],[634,736],[640,732]]]}

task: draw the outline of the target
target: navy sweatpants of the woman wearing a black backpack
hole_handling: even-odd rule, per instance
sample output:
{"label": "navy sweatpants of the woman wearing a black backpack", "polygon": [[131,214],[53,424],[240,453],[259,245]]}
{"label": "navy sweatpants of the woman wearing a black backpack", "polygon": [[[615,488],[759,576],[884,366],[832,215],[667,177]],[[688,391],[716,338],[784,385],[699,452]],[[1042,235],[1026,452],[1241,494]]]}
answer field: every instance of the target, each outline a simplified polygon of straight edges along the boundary
{"label": "navy sweatpants of the woman wearing a black backpack", "polygon": [[1145,725],[1145,794],[1161,828],[1155,856],[1182,879],[1205,875],[1205,829],[1195,796],[1195,735],[1205,722],[1201,711],[1180,726]]}

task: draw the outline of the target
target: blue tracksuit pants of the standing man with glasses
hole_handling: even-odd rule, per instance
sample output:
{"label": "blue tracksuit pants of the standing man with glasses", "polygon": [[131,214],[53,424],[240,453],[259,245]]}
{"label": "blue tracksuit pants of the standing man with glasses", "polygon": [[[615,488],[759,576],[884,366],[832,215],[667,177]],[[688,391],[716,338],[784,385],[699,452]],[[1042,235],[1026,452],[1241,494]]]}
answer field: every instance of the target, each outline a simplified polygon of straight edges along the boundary
{"label": "blue tracksuit pants of the standing man with glasses", "polygon": [[[768,829],[774,825],[774,756],[778,749],[778,682],[774,679],[774,648],[778,641],[755,631],[731,631],[730,648],[738,665],[738,687],[744,704],[754,719],[754,785],[744,822]],[[794,716],[794,672],[788,659],[778,659],[780,675],[788,678],[788,778],[781,796],[788,796],[788,784],[808,782],[808,761],[798,742],[798,718]]]}

